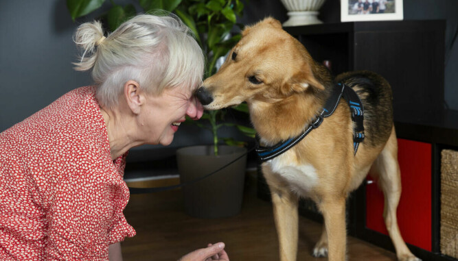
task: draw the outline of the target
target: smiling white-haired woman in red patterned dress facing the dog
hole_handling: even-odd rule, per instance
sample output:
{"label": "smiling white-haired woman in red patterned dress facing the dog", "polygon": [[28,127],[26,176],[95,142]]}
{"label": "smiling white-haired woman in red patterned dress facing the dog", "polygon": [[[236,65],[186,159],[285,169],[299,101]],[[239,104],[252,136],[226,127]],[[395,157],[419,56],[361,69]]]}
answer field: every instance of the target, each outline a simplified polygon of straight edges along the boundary
{"label": "smiling white-haired woman in red patterned dress facing the dog", "polygon": [[[104,37],[75,34],[95,86],[77,88],[0,134],[0,260],[120,260],[134,236],[123,210],[126,152],[169,145],[194,97],[203,54],[172,16],[139,15]],[[109,252],[109,253],[108,253]],[[218,243],[181,260],[229,260]]]}

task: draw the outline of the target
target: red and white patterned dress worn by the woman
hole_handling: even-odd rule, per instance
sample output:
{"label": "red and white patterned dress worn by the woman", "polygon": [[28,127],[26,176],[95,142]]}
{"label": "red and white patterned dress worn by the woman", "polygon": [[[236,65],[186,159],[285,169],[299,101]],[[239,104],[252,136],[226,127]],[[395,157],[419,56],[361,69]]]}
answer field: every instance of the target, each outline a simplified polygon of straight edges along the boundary
{"label": "red and white patterned dress worn by the woman", "polygon": [[108,260],[108,245],[135,236],[125,164],[111,160],[91,86],[0,133],[0,260]]}

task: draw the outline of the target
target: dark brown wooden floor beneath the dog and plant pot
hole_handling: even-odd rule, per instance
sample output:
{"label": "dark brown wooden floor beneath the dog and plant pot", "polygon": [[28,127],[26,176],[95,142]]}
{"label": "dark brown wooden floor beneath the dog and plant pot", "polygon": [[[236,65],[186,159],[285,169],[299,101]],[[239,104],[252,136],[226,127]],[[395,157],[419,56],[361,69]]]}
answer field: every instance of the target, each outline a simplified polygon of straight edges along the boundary
{"label": "dark brown wooden floor beneath the dog and plant pot", "polygon": [[[247,175],[240,214],[227,219],[196,219],[183,211],[181,190],[131,195],[124,210],[137,236],[122,242],[125,261],[172,261],[185,253],[222,241],[231,260],[277,261],[277,236],[271,203],[255,195],[255,177]],[[297,260],[313,258],[310,253],[321,234],[321,224],[299,217]],[[396,255],[356,238],[348,239],[348,260],[396,260]]]}

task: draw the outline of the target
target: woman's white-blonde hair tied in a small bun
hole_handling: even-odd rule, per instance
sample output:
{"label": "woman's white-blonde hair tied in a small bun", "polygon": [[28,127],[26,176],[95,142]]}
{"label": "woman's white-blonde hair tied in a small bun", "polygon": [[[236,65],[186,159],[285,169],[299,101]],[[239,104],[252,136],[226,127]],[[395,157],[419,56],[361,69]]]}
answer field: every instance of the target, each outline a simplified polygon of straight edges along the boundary
{"label": "woman's white-blonde hair tied in a small bun", "polygon": [[194,90],[202,82],[202,49],[173,14],[139,14],[106,38],[100,22],[83,23],[73,40],[84,51],[76,71],[92,69],[98,101],[108,107],[117,104],[130,79],[154,95],[165,88]]}

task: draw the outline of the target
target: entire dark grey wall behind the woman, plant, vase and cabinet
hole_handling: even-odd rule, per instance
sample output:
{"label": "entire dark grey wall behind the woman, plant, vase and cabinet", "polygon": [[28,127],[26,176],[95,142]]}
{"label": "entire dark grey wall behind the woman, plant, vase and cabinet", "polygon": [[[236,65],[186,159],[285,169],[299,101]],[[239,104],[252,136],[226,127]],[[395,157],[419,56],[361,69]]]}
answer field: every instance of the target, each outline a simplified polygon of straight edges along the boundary
{"label": "entire dark grey wall behind the woman, plant, vase and cabinet", "polygon": [[[123,1],[115,1],[126,2]],[[109,6],[107,2],[105,7]],[[279,0],[250,0],[242,23],[255,23],[265,16],[286,21]],[[328,0],[322,8],[325,22],[339,22],[339,0]],[[65,92],[91,84],[88,73],[73,71],[76,47],[73,23],[64,0],[2,1],[0,8],[0,132],[44,108]],[[445,99],[458,110],[458,44],[451,45],[458,26],[456,0],[404,0],[404,19],[447,19]],[[172,146],[209,143],[205,132],[184,127]],[[230,132],[229,132],[230,133]],[[224,135],[224,134],[223,134]]]}

